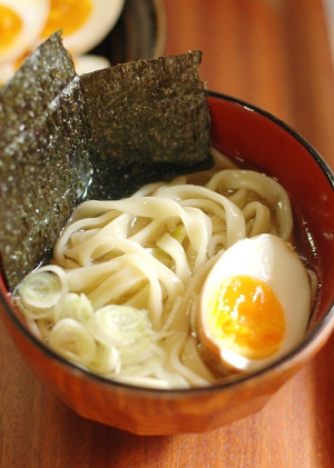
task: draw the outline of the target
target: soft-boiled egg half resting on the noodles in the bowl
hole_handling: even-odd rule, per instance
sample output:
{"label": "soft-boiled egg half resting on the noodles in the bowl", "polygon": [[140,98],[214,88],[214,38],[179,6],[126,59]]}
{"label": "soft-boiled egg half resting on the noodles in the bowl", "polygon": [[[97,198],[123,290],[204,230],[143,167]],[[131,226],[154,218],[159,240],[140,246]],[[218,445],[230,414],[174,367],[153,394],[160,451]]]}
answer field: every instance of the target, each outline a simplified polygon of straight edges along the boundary
{"label": "soft-boiled egg half resting on the noodles in the bowl", "polygon": [[227,249],[207,276],[199,338],[223,365],[256,371],[301,342],[310,310],[308,275],[293,247],[256,236]]}

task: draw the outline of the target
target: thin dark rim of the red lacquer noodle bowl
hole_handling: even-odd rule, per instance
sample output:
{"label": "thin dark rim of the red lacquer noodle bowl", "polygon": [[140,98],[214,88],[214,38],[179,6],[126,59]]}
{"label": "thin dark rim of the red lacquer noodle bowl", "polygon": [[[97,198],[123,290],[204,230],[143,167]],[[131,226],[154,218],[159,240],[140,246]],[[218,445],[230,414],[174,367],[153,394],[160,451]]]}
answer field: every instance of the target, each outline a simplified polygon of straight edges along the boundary
{"label": "thin dark rim of the red lacquer noodle bowl", "polygon": [[[257,112],[258,114],[269,119],[275,125],[283,128],[285,131],[287,131],[292,137],[294,137],[304,148],[307,150],[307,152],[313,157],[313,159],[316,161],[318,167],[321,168],[322,172],[325,175],[326,179],[328,180],[330,186],[332,186],[332,189],[334,190],[334,173],[331,170],[330,166],[325,162],[323,157],[313,148],[308,141],[302,137],[296,130],[294,130],[292,127],[289,127],[287,123],[282,121],[279,118],[273,116],[271,112],[254,106],[252,103],[248,103],[242,99],[234,98],[229,94],[225,94],[217,91],[207,91],[207,97],[217,98],[218,100],[225,100],[230,101],[235,104],[242,106],[243,108]],[[146,396],[155,396],[155,397],[196,397],[205,394],[216,394],[220,392],[225,389],[236,388],[238,386],[247,385],[249,381],[256,380],[261,377],[264,377],[272,371],[275,371],[278,367],[282,367],[286,364],[287,360],[293,360],[298,354],[301,354],[303,350],[305,350],[313,341],[316,340],[317,337],[322,335],[324,329],[327,327],[327,325],[332,321],[332,328],[334,328],[334,298],[332,300],[331,306],[328,307],[328,311],[325,313],[325,316],[322,318],[322,320],[317,323],[317,326],[312,330],[312,332],[307,333],[303,341],[288,355],[283,356],[277,361],[271,364],[268,367],[265,367],[264,369],[261,369],[253,374],[240,374],[238,378],[233,379],[230,381],[226,382],[219,382],[214,384],[212,386],[206,387],[194,387],[194,388],[186,388],[186,389],[158,389],[158,388],[149,388],[149,387],[143,387],[143,386],[132,386],[129,384],[124,384],[120,381],[115,381],[111,379],[107,379],[102,376],[99,376],[97,374],[91,372],[88,369],[82,368],[79,364],[72,362],[63,358],[62,356],[58,355],[56,351],[53,351],[51,348],[49,348],[43,341],[41,341],[38,337],[36,337],[17,317],[17,315],[11,310],[11,307],[9,305],[9,296],[10,292],[7,291],[3,282],[2,277],[0,275],[0,305],[2,306],[2,309],[7,313],[8,318],[11,322],[13,322],[13,326],[19,329],[19,331],[24,336],[30,343],[37,346],[37,348],[42,352],[46,354],[47,357],[51,358],[57,364],[65,366],[68,368],[73,375],[77,377],[89,379],[95,384],[104,385],[106,387],[109,387],[110,390],[126,390],[128,394],[136,394],[136,395],[146,395]]]}

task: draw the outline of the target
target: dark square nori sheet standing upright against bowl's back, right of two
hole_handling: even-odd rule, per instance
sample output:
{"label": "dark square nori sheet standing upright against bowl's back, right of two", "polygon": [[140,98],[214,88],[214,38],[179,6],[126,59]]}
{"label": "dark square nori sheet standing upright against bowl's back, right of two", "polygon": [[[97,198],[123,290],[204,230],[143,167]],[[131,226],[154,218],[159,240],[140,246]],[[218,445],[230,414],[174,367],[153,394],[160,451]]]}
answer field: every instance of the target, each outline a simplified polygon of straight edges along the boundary
{"label": "dark square nori sheet standing upright against bowl's back, right of two", "polygon": [[89,198],[212,166],[202,52],[121,63],[81,77],[90,122]]}

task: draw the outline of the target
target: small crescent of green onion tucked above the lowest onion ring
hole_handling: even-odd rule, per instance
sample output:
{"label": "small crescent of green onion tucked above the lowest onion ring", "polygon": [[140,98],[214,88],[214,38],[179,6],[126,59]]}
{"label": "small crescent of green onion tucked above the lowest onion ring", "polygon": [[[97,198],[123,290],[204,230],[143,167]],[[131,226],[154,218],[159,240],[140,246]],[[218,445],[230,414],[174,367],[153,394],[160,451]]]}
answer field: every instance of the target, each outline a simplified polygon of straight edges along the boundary
{"label": "small crescent of green onion tucked above the lowest onion ring", "polygon": [[68,292],[53,307],[55,322],[63,318],[72,318],[85,323],[92,317],[92,305],[84,293]]}

